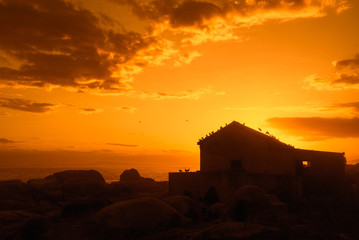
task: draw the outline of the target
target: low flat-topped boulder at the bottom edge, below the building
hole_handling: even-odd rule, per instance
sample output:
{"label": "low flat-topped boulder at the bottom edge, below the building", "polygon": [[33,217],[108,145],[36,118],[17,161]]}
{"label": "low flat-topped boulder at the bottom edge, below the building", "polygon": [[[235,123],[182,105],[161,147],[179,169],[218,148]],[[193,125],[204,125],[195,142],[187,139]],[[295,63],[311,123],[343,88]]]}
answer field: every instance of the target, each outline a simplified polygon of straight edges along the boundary
{"label": "low flat-topped boulder at the bottom edge, below the building", "polygon": [[221,239],[272,239],[275,229],[252,223],[225,222],[209,226],[196,234],[191,240],[221,240]]}

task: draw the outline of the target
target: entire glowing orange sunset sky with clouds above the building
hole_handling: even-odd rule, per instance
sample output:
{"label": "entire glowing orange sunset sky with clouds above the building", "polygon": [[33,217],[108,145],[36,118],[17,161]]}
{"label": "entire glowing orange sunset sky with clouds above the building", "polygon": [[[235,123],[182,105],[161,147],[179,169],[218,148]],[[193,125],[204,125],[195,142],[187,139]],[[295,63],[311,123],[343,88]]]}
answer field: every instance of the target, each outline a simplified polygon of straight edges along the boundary
{"label": "entire glowing orange sunset sky with clouds above the building", "polygon": [[359,162],[358,23],[356,0],[0,0],[0,152],[198,162],[236,120]]}

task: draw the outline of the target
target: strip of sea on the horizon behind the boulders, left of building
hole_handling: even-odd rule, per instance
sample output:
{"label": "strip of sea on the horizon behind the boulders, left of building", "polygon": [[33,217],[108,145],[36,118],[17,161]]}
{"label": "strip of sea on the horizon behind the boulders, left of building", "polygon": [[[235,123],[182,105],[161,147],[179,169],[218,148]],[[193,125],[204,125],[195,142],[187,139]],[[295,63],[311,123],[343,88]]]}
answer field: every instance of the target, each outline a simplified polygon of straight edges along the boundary
{"label": "strip of sea on the horizon behind the boulders, left of building", "polygon": [[[30,179],[39,179],[49,176],[53,173],[64,170],[97,170],[99,171],[106,182],[115,182],[120,180],[121,173],[126,168],[121,167],[96,167],[96,168],[66,168],[66,167],[35,167],[35,168],[0,168],[0,180],[19,179],[26,182]],[[161,169],[153,167],[139,167],[136,168],[142,177],[153,178],[156,181],[168,181],[168,173],[171,171],[178,171],[178,169]]]}

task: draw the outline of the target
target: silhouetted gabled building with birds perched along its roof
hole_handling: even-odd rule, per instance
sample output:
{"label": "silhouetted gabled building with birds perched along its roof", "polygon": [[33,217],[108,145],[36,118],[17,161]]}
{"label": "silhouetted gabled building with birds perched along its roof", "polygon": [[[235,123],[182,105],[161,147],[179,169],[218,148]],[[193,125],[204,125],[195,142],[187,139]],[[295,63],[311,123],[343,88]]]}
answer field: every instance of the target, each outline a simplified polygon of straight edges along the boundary
{"label": "silhouetted gabled building with birds perched along its roof", "polygon": [[317,188],[332,193],[344,178],[344,153],[296,149],[235,121],[198,145],[201,170],[169,173],[171,195],[186,193],[201,199],[215,188],[226,200],[237,188],[250,184],[290,201]]}

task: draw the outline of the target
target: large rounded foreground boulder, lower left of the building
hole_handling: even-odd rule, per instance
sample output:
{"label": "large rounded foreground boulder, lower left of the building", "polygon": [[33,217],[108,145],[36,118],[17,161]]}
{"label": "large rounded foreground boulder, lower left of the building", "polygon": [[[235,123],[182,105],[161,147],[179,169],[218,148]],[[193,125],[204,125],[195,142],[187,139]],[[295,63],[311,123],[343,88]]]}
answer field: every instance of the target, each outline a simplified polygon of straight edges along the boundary
{"label": "large rounded foreground boulder, lower left of the building", "polygon": [[[184,217],[156,198],[138,198],[114,203],[96,213],[94,220],[106,233],[119,239],[132,239],[147,233],[179,226]],[[121,238],[122,237],[122,238]]]}

